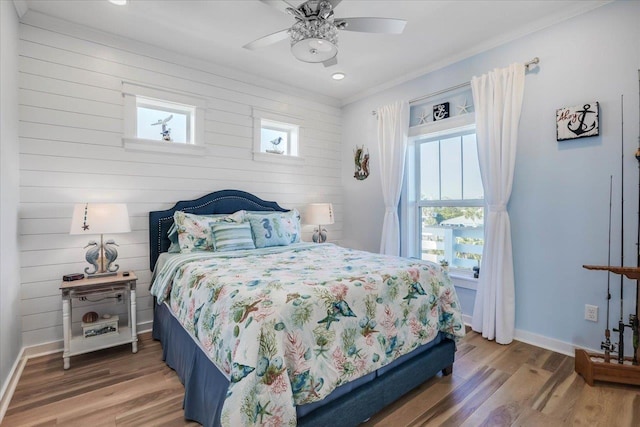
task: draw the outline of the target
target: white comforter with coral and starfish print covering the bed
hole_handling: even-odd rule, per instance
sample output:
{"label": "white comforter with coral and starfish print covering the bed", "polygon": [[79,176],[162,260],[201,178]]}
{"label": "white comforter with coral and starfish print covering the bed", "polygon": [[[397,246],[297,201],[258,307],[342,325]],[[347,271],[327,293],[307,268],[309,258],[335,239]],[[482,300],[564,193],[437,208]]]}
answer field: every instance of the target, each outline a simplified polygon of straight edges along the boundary
{"label": "white comforter with coral and starfish print covering the bed", "polygon": [[152,294],[230,380],[226,426],[294,426],[323,399],[435,338],[464,336],[448,275],[432,263],[295,244],[176,255]]}

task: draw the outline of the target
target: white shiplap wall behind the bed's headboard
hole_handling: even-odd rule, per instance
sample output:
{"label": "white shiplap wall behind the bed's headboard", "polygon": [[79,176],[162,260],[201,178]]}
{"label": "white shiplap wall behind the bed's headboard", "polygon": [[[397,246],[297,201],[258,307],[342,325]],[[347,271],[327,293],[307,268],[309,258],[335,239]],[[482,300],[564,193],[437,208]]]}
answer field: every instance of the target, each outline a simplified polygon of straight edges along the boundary
{"label": "white shiplap wall behind the bed's headboard", "polygon": [[[204,47],[203,47],[204,48]],[[342,236],[341,119],[336,100],[96,32],[34,12],[20,25],[20,218],[25,346],[62,339],[60,279],[79,272],[87,238],[69,235],[75,203],[124,202],[132,232],[112,236],[138,275],[138,321],[150,327],[148,212],[236,188],[287,208],[333,202]],[[123,81],[207,100],[207,154],[126,151]],[[304,165],[252,160],[252,107],[304,120]],[[308,239],[308,234],[306,236]],[[91,305],[86,303],[86,305]],[[124,311],[113,303],[99,312]],[[74,311],[79,321],[89,307]]]}

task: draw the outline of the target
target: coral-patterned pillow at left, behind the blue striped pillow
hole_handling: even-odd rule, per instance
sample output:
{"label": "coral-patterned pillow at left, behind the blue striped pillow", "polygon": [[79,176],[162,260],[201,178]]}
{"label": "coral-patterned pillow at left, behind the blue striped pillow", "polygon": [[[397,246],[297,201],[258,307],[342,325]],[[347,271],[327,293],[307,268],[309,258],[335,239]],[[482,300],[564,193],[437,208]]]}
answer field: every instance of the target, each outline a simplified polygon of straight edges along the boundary
{"label": "coral-patterned pillow at left, behind the blue striped pillow", "polygon": [[242,222],[244,211],[231,215],[195,215],[176,211],[173,220],[178,231],[180,252],[213,251],[215,246],[211,225],[218,222]]}

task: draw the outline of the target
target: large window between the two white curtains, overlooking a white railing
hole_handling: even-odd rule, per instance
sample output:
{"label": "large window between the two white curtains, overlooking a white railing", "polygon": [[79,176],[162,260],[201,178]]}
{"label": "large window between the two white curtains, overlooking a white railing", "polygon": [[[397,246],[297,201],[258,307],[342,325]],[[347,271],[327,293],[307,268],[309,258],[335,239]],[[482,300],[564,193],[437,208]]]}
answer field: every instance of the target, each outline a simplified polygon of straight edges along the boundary
{"label": "large window between the two white curtains, overlooking a white railing", "polygon": [[[484,193],[473,128],[413,141],[405,188],[409,255],[469,270],[480,265]],[[411,194],[409,194],[411,193]],[[407,203],[408,202],[408,203]]]}

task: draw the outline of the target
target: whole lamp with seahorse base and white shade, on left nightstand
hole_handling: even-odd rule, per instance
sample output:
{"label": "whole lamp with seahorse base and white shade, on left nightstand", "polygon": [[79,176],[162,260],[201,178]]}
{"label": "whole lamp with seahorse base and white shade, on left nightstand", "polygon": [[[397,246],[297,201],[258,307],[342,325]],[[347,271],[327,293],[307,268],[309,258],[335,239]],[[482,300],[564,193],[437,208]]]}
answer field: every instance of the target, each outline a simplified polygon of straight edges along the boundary
{"label": "whole lamp with seahorse base and white shade, on left nightstand", "polygon": [[82,203],[73,208],[71,218],[71,230],[69,234],[100,235],[100,245],[95,240],[90,240],[85,248],[85,259],[91,267],[86,267],[84,272],[88,278],[113,276],[120,266],[114,264],[118,258],[115,241],[104,241],[105,234],[128,233],[131,231],[129,224],[129,212],[124,203]]}

